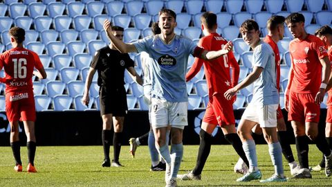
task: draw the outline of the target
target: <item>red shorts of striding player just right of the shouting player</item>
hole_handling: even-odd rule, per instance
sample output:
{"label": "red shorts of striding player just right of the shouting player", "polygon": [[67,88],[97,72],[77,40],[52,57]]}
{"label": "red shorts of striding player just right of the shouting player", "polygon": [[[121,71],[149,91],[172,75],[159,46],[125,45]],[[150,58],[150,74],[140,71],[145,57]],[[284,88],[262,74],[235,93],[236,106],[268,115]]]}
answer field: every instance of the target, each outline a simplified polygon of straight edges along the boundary
{"label": "red shorts of striding player just right of the shouting player", "polygon": [[219,126],[235,124],[233,100],[226,100],[221,94],[212,96],[206,107],[203,122]]}

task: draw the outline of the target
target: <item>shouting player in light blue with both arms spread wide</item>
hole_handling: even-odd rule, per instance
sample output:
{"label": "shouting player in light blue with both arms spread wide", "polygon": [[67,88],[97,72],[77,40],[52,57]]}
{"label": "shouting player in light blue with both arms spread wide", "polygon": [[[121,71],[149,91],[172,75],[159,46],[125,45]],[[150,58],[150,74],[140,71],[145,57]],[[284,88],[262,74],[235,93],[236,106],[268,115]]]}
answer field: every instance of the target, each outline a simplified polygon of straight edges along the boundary
{"label": "shouting player in light blue with both arms spread wide", "polygon": [[[176,175],[183,157],[183,129],[187,125],[187,89],[185,73],[190,54],[213,60],[232,49],[228,43],[219,51],[206,51],[185,37],[176,35],[176,14],[169,9],[159,12],[160,35],[145,37],[125,44],[111,35],[111,23],[104,21],[104,30],[121,53],[145,51],[154,59],[152,63],[151,125],[156,147],[166,161],[166,186],[176,186]],[[166,143],[167,126],[171,125],[171,152]],[[172,167],[171,167],[172,165]]]}

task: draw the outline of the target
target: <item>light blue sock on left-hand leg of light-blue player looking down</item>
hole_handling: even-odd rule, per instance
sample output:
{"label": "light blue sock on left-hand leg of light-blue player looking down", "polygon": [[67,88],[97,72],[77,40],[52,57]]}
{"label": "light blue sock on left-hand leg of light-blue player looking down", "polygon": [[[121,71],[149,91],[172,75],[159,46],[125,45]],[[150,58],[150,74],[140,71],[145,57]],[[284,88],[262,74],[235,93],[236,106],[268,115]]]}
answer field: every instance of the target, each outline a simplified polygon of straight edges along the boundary
{"label": "light blue sock on left-hand leg of light-blue player looking down", "polygon": [[242,144],[243,151],[249,162],[249,171],[253,172],[258,170],[256,144],[254,140],[248,140]]}

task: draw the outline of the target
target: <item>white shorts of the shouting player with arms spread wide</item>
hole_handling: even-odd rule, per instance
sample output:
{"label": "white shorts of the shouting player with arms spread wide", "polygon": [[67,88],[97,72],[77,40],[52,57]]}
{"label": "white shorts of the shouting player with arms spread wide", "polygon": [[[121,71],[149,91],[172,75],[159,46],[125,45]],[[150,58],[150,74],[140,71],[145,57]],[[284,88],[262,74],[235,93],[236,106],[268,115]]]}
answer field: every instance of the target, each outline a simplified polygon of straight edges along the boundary
{"label": "white shorts of the shouting player with arms spread wide", "polygon": [[151,125],[154,128],[171,125],[184,129],[188,125],[187,102],[172,103],[165,99],[151,98]]}

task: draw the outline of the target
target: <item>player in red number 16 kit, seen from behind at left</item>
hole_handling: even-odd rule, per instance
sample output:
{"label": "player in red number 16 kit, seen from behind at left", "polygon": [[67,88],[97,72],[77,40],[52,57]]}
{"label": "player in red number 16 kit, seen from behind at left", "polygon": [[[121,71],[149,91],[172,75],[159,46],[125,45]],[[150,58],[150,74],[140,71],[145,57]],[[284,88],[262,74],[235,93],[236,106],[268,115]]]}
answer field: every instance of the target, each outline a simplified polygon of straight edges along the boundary
{"label": "player in red number 16 kit, seen from behind at left", "polygon": [[[25,30],[12,27],[9,30],[12,48],[0,55],[0,69],[6,76],[6,114],[10,123],[10,146],[16,161],[14,169],[22,171],[19,143],[19,121],[23,121],[28,148],[28,172],[37,172],[34,166],[36,152],[35,99],[33,98],[33,75],[46,78],[46,72],[38,55],[23,47]],[[34,69],[37,70],[34,70]]]}

